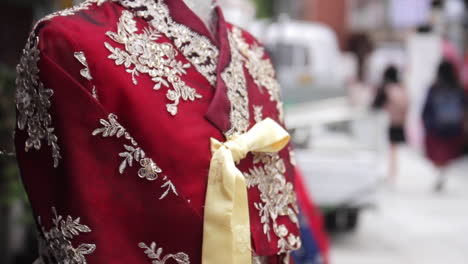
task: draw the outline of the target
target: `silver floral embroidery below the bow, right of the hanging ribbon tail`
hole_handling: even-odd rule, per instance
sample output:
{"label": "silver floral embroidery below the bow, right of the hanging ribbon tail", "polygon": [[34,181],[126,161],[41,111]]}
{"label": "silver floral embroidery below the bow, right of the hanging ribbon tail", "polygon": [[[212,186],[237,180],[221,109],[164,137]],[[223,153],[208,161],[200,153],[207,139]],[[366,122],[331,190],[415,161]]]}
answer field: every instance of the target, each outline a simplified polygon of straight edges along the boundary
{"label": "silver floral embroidery below the bow, right of the hanging ribbon tail", "polygon": [[[258,166],[262,163],[264,166]],[[244,173],[247,186],[258,187],[260,203],[254,206],[259,210],[263,232],[270,240],[270,231],[279,238],[280,253],[300,248],[299,237],[290,234],[286,226],[278,225],[279,216],[288,216],[293,223],[298,223],[299,208],[292,183],[287,182],[284,174],[286,167],[278,153],[254,153],[254,164],[249,173]]]}

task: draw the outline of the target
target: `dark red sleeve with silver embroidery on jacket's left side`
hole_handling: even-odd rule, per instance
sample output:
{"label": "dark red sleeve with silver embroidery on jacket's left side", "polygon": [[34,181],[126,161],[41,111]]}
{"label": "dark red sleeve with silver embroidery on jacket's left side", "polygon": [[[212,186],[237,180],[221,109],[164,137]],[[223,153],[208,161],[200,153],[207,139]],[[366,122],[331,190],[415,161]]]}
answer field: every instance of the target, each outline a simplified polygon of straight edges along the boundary
{"label": "dark red sleeve with silver embroidery on jacket's left side", "polygon": [[86,263],[96,248],[88,242],[95,221],[90,210],[103,206],[93,200],[105,183],[91,179],[98,164],[109,161],[91,132],[106,113],[82,80],[75,50],[60,28],[42,23],[17,66],[15,145],[45,263]]}

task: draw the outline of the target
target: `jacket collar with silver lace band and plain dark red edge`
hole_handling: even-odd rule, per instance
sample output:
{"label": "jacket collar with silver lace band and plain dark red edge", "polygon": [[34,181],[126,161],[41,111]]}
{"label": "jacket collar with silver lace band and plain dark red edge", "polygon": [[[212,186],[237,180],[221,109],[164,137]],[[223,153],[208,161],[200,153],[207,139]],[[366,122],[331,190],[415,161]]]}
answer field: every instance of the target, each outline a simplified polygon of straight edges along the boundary
{"label": "jacket collar with silver lace band and plain dark red edge", "polygon": [[220,7],[216,7],[217,26],[214,37],[205,23],[183,0],[115,0],[155,29],[171,38],[174,45],[212,86],[216,87],[205,115],[216,128],[231,128],[231,102],[222,73],[231,61],[228,26]]}

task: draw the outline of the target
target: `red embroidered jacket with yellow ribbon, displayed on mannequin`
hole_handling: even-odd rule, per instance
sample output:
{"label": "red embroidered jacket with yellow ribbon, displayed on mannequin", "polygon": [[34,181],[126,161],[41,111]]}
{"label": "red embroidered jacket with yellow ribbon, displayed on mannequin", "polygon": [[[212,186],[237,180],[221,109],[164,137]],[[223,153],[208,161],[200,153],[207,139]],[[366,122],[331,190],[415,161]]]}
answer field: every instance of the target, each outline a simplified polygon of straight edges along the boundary
{"label": "red embroidered jacket with yellow ribbon, displayed on mannequin", "polygon": [[273,65],[215,6],[87,0],[31,31],[15,145],[36,264],[278,264],[301,246]]}

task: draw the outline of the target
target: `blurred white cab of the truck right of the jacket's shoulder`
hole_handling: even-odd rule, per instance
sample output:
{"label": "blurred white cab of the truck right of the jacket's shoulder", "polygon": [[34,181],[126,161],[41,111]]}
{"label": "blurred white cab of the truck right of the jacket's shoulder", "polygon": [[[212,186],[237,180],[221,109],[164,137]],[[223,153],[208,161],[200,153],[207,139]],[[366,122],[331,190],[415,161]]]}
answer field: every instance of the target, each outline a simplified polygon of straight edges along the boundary
{"label": "blurred white cab of the truck right of the jacket's shoulder", "polygon": [[342,55],[328,27],[283,19],[267,28],[263,41],[275,63],[286,104],[344,93]]}

